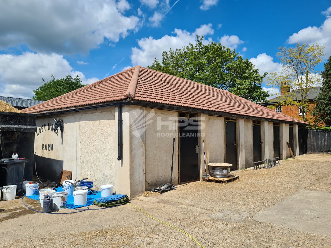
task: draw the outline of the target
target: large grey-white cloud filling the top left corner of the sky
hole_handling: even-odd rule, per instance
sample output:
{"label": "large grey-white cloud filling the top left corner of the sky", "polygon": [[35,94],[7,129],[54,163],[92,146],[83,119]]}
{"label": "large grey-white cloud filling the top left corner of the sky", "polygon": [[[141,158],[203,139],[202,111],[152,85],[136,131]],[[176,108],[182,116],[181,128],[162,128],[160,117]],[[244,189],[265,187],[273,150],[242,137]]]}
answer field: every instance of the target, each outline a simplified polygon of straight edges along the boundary
{"label": "large grey-white cloud filling the top left corner of the sky", "polygon": [[121,13],[127,8],[123,0],[0,1],[0,23],[6,23],[0,49],[26,44],[38,52],[88,52],[137,28],[138,17]]}

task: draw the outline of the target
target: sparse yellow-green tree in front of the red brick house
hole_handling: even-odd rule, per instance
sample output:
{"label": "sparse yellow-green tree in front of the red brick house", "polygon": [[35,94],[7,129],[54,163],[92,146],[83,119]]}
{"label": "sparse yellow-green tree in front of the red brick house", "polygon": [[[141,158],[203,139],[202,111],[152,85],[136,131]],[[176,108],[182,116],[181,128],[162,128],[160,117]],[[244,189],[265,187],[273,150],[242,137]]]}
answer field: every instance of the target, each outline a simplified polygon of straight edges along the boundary
{"label": "sparse yellow-green tree in front of the red brick house", "polygon": [[[295,105],[302,111],[302,120],[307,120],[310,112],[308,92],[320,83],[318,64],[322,62],[323,46],[296,44],[295,47],[279,47],[277,57],[281,62],[281,70],[270,74],[269,85],[281,87],[289,92],[282,95],[278,106]],[[270,106],[274,107],[274,106]]]}

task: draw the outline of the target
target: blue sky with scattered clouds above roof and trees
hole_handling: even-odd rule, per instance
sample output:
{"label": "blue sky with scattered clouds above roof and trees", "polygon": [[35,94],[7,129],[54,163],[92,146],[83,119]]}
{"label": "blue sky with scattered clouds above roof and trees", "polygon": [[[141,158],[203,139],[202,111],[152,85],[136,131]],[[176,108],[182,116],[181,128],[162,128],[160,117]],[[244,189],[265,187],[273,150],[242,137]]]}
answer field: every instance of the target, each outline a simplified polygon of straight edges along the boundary
{"label": "blue sky with scattered clouds above roof and trees", "polygon": [[51,74],[78,74],[92,83],[150,65],[196,34],[235,48],[260,73],[279,69],[279,46],[319,42],[327,58],[330,6],[329,0],[1,1],[0,95],[29,98]]}

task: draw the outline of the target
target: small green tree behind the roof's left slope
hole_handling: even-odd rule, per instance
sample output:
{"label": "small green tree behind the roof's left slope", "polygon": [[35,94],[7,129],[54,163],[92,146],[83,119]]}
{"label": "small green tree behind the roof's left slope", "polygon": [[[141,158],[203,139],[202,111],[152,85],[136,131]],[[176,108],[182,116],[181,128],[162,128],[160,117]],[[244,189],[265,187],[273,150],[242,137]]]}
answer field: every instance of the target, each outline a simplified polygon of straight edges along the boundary
{"label": "small green tree behind the roof's left slope", "polygon": [[42,85],[33,91],[35,96],[32,99],[34,100],[47,101],[85,86],[81,84],[78,75],[75,78],[66,76],[60,79],[55,79],[54,75],[52,75],[49,81],[46,82],[43,78],[42,81]]}

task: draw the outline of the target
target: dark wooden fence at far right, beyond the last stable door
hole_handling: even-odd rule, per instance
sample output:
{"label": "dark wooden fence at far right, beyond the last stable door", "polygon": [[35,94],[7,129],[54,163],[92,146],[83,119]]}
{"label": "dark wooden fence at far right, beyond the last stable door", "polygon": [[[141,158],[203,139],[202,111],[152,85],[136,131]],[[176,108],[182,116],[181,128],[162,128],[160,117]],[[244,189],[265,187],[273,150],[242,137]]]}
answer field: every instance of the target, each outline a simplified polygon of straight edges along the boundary
{"label": "dark wooden fence at far right, beyond the last stable door", "polygon": [[309,129],[307,151],[331,152],[331,131]]}

